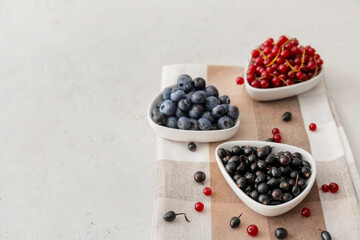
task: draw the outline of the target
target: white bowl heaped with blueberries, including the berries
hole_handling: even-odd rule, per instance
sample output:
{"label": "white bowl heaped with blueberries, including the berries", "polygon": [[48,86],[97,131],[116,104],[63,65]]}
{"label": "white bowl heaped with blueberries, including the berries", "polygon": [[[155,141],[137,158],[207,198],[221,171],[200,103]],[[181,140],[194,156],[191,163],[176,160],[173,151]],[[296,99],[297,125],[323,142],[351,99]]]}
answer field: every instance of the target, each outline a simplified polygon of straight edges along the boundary
{"label": "white bowl heaped with blueberries, including the berries", "polygon": [[203,78],[186,74],[165,88],[148,109],[148,120],[163,138],[180,142],[217,142],[232,137],[240,126],[239,109],[227,95]]}

